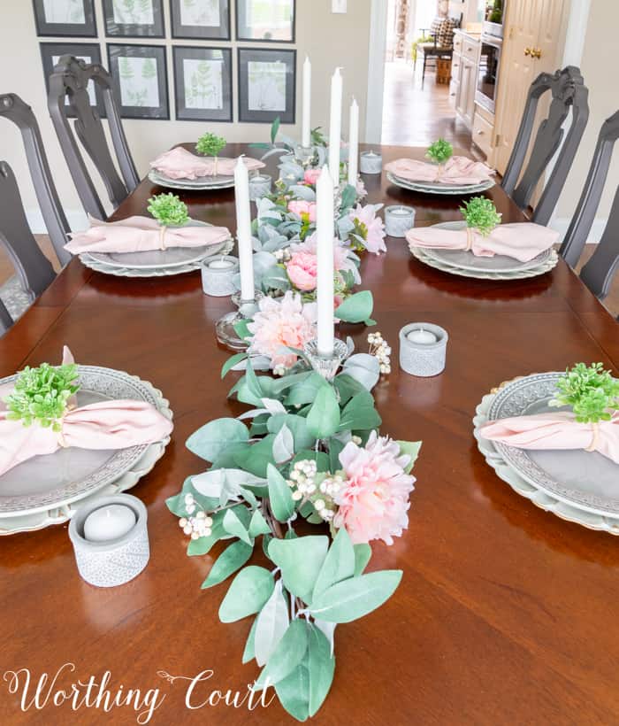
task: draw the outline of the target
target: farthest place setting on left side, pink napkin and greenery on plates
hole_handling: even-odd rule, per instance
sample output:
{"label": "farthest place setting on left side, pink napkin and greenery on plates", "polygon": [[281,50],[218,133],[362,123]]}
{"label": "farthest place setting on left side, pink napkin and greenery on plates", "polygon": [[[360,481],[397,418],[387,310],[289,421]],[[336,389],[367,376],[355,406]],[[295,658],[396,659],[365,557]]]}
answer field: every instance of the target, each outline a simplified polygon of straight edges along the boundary
{"label": "farthest place setting on left side, pink napkin and greenery on plates", "polygon": [[[225,147],[225,139],[214,134],[204,134],[195,145],[196,156],[182,146],[164,151],[150,162],[149,180],[154,184],[171,189],[203,191],[209,189],[230,189],[234,186],[235,158],[220,158],[219,151]],[[244,157],[243,163],[249,171],[264,168],[264,162]]]}

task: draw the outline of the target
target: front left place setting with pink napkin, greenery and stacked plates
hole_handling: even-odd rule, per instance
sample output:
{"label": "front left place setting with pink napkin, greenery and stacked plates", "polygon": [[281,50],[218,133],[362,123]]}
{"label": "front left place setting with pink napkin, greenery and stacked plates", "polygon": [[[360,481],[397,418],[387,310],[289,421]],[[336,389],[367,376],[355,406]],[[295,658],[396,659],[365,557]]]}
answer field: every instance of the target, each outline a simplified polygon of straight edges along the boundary
{"label": "front left place setting with pink napkin, greenery and stacked plates", "polygon": [[147,474],[170,441],[161,391],[122,371],[43,364],[0,380],[0,534],[67,521]]}

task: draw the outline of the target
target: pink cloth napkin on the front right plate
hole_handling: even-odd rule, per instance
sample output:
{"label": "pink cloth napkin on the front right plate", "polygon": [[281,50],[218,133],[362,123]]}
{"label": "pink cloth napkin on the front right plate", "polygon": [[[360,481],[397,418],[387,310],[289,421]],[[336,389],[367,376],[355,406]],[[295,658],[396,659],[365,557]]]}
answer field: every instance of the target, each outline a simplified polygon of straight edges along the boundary
{"label": "pink cloth napkin on the front right plate", "polygon": [[489,421],[480,429],[489,441],[516,449],[585,449],[619,464],[619,411],[610,421],[578,423],[573,413],[538,413]]}

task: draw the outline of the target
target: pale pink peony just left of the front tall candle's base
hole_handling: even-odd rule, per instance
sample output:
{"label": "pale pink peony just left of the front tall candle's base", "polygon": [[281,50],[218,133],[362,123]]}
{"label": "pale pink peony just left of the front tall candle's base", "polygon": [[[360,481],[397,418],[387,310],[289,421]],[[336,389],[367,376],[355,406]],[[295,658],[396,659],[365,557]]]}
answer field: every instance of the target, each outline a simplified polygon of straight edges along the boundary
{"label": "pale pink peony just left of the front tall candle's base", "polygon": [[291,290],[279,300],[263,297],[254,320],[248,323],[253,336],[248,353],[268,356],[272,368],[294,366],[296,355],[282,346],[302,348],[316,337],[316,321],[316,303],[303,305],[301,295]]}

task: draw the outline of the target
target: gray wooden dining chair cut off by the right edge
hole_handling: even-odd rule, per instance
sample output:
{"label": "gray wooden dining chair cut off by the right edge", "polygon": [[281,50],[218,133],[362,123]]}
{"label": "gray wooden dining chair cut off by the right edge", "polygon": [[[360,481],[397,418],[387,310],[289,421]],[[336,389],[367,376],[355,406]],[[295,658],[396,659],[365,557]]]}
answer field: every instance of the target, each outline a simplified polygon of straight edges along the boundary
{"label": "gray wooden dining chair cut off by the right edge", "polygon": [[[585,249],[600,197],[608,177],[608,167],[615,142],[619,138],[619,111],[604,121],[593,152],[589,174],[574,216],[563,238],[559,253],[569,266],[576,266]],[[608,215],[608,221],[591,259],[580,271],[580,277],[594,295],[603,300],[619,268],[619,187]]]}

